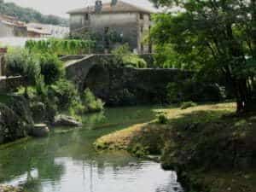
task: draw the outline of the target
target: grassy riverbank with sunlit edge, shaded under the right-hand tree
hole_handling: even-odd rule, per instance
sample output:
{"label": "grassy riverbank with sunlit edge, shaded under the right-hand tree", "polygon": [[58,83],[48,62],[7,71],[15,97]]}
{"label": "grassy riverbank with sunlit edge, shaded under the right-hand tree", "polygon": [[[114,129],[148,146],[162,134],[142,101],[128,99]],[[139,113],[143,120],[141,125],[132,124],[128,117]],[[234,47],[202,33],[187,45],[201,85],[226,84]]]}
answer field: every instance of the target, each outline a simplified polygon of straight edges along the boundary
{"label": "grassy riverbank with sunlit edge, shaded under the right-hand tree", "polygon": [[96,140],[98,149],[125,149],[137,156],[160,154],[193,191],[255,192],[256,115],[236,117],[234,103],[157,111],[168,119],[133,125]]}

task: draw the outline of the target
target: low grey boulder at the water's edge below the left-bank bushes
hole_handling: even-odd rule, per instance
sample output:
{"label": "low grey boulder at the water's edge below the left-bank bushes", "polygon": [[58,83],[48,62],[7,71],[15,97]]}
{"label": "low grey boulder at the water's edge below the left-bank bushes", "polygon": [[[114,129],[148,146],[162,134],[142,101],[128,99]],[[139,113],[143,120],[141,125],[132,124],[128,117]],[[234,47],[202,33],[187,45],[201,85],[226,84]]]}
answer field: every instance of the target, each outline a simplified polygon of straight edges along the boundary
{"label": "low grey boulder at the water's edge below the left-bank bushes", "polygon": [[82,126],[82,123],[67,115],[57,115],[53,123],[55,126]]}

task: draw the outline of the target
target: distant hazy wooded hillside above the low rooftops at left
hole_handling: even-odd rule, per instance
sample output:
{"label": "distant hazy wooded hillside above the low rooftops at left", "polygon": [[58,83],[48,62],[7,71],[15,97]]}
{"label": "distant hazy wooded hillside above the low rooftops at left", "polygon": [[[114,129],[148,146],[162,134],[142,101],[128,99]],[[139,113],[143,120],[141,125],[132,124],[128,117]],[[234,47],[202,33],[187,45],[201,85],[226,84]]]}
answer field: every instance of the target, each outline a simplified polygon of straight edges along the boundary
{"label": "distant hazy wooded hillside above the low rooftops at left", "polygon": [[55,15],[42,15],[30,8],[22,8],[15,3],[0,2],[0,13],[14,16],[25,22],[39,22],[45,24],[68,26],[68,20]]}

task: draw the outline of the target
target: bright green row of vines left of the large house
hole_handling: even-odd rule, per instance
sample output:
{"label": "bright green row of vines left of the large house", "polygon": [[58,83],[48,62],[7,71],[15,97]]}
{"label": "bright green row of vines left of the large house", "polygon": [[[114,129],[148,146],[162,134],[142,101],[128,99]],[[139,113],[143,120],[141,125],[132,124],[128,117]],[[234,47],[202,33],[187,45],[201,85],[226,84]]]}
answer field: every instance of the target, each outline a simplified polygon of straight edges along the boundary
{"label": "bright green row of vines left of the large house", "polygon": [[77,39],[56,39],[47,40],[28,40],[26,41],[26,49],[31,53],[54,54],[54,55],[81,55],[89,54],[94,49],[95,42],[91,40]]}

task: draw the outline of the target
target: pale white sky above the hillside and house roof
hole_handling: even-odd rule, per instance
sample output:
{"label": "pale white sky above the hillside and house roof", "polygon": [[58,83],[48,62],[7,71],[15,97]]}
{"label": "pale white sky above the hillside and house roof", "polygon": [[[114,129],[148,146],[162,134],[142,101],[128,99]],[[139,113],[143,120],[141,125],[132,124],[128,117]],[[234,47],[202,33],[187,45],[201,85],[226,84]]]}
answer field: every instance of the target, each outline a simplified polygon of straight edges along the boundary
{"label": "pale white sky above the hillside and house roof", "polygon": [[[102,0],[103,3],[110,0]],[[148,0],[122,0],[127,3],[133,3],[143,8],[154,9],[154,6]],[[68,10],[85,7],[88,3],[94,4],[95,0],[4,0],[4,2],[13,2],[22,7],[37,9],[44,15],[58,15],[68,17]]]}

